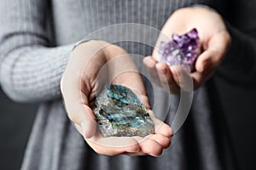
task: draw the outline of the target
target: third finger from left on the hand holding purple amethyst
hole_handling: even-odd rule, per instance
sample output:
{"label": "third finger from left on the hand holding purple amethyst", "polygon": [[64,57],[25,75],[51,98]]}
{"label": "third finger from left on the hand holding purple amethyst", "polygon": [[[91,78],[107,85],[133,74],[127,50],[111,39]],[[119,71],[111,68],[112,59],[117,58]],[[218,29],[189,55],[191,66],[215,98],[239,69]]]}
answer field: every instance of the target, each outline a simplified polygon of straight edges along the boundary
{"label": "third finger from left on the hand holding purple amethyst", "polygon": [[171,67],[173,79],[177,82],[178,86],[185,91],[191,92],[193,88],[193,80],[187,71],[180,65]]}

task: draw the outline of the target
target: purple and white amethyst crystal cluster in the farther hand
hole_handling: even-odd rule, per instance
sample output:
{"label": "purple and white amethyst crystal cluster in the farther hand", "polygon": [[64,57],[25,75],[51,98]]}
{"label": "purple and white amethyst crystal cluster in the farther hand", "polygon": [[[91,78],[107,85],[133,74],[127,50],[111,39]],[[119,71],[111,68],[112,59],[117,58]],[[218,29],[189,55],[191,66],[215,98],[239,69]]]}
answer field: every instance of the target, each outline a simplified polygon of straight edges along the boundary
{"label": "purple and white amethyst crystal cluster in the farther hand", "polygon": [[169,66],[182,65],[186,70],[189,67],[194,69],[195,59],[201,53],[199,41],[195,28],[181,36],[172,34],[170,42],[160,42],[157,60]]}

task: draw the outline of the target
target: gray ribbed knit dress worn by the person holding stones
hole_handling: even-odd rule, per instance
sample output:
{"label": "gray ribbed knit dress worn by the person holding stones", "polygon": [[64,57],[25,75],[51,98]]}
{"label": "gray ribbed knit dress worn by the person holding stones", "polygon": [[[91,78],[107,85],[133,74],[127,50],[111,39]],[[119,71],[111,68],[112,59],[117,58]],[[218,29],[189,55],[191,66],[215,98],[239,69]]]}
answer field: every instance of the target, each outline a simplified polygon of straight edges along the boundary
{"label": "gray ribbed knit dress worn by the person holding stones", "polygon": [[[118,23],[140,23],[161,29],[177,8],[195,3],[212,3],[214,6],[216,2],[218,1],[1,0],[1,86],[9,98],[15,101],[42,103],[32,127],[21,168],[236,169],[229,140],[223,135],[226,129],[221,111],[218,110],[218,100],[215,100],[217,93],[212,81],[195,93],[187,121],[176,133],[172,146],[158,158],[97,155],[67,119],[59,88],[61,74],[74,44],[90,32]],[[216,3],[216,7],[223,10],[224,5]],[[242,27],[244,30],[253,28],[254,26],[250,28],[248,25]],[[231,26],[230,32],[234,43],[224,65],[218,69],[218,74],[237,82],[237,77],[231,73],[244,73],[248,77],[240,77],[238,82],[254,83],[253,66],[249,65],[247,71],[237,71],[234,68],[242,63],[241,58],[248,50],[251,53],[249,60],[255,62],[255,40]],[[131,30],[127,35],[135,33]],[[245,45],[237,51],[237,44]],[[133,42],[120,42],[119,45],[131,54],[143,56],[151,54],[152,50]],[[169,124],[172,123],[172,112],[175,112],[175,99],[171,101],[174,108],[170,108],[169,116],[166,117]],[[154,102],[159,105],[164,103],[160,98]]]}

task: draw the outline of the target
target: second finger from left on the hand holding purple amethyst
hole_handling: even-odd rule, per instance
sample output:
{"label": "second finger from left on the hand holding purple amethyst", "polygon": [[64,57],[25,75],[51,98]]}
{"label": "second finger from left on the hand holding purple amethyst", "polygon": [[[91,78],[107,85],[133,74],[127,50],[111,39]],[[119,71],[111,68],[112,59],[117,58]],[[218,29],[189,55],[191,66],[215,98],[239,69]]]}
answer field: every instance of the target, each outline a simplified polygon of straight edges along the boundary
{"label": "second finger from left on the hand holding purple amethyst", "polygon": [[179,92],[179,87],[172,77],[172,72],[169,66],[166,65],[166,63],[157,63],[156,70],[160,79],[161,87],[167,89],[168,92],[171,92],[172,94],[177,94]]}

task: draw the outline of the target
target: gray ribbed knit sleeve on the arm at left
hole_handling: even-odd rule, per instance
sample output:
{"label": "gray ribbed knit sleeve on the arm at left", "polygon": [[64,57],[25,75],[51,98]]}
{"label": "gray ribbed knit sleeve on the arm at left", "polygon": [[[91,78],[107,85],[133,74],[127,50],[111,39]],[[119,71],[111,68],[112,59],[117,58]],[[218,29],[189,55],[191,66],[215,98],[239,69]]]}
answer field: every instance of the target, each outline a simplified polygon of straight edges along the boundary
{"label": "gray ribbed knit sleeve on the arm at left", "polygon": [[0,1],[0,82],[19,102],[60,97],[62,72],[74,44],[49,47],[48,0]]}

